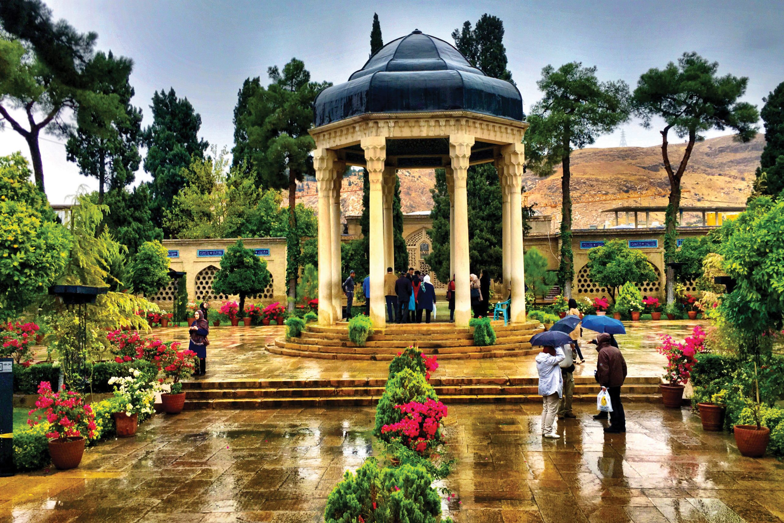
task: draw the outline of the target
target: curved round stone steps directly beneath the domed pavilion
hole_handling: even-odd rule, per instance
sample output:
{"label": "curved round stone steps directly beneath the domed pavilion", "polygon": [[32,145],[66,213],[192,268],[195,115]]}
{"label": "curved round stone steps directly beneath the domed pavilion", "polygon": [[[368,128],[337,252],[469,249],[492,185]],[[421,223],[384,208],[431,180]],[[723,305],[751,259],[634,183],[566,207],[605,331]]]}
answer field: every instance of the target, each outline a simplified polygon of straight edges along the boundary
{"label": "curved round stone steps directly beneath the domed pavilion", "polygon": [[267,350],[285,356],[336,360],[389,361],[406,347],[416,345],[425,354],[438,354],[439,359],[503,358],[527,356],[539,350],[531,347],[531,337],[542,332],[538,321],[503,325],[492,321],[495,345],[474,345],[474,329],[456,327],[452,323],[415,323],[387,325],[368,337],[365,347],[358,347],[348,338],[348,324],[341,321],[328,327],[310,324],[298,338],[281,336],[267,345]]}

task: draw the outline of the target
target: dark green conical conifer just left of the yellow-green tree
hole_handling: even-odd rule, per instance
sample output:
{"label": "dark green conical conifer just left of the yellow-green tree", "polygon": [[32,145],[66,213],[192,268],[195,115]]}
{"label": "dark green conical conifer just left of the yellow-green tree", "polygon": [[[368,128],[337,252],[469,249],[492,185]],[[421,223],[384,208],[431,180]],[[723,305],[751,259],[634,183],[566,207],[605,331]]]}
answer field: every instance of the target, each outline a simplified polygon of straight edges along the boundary
{"label": "dark green conical conifer just left of the yellow-green tree", "polygon": [[208,143],[198,138],[201,116],[187,98],[177,98],[174,88],[169,93],[156,91],[150,108],[153,122],[143,134],[147,146],[144,170],[153,178],[152,220],[162,227],[164,210],[171,208],[175,194],[185,185],[182,170],[191,165],[192,158],[204,158]]}

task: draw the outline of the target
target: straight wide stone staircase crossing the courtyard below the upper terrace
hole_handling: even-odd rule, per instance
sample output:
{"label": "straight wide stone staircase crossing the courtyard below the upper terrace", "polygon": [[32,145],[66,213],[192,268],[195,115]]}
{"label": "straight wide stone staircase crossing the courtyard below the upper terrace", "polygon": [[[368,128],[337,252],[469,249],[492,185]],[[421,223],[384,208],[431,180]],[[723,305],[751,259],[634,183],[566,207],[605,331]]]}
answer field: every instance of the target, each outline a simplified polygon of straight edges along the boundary
{"label": "straight wide stone staircase crossing the courtyard below the upper terrace", "polygon": [[[376,405],[386,380],[252,380],[189,381],[185,409],[270,409],[278,407],[325,407]],[[541,403],[535,377],[432,377],[438,398],[454,403]],[[661,380],[656,376],[627,377],[621,389],[623,401],[660,403]],[[598,388],[590,376],[575,377],[574,401],[595,402]]]}

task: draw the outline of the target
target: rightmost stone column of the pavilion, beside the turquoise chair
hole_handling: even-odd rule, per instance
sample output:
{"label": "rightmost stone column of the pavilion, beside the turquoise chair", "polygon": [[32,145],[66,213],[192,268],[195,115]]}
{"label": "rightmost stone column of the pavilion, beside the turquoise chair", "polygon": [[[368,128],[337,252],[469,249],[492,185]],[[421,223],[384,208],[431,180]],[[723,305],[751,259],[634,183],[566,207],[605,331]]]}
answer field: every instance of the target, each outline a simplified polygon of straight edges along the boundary
{"label": "rightmost stone column of the pavilion, beside the turquoise chair", "polygon": [[509,191],[510,212],[510,263],[512,280],[512,306],[510,321],[525,321],[525,275],[523,271],[523,144],[510,143],[501,148],[506,187]]}

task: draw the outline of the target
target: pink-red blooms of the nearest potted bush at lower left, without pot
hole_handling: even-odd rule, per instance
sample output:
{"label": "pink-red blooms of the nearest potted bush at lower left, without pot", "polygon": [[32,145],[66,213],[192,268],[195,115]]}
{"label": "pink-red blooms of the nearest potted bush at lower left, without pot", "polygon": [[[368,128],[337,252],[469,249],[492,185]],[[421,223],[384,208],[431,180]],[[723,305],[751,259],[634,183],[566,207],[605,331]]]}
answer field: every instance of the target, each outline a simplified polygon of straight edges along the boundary
{"label": "pink-red blooms of the nearest potted bush at lower left, without pot", "polygon": [[37,419],[27,419],[27,424],[31,427],[38,425],[38,421],[45,417],[51,429],[46,433],[47,438],[95,437],[95,414],[78,392],[65,390],[65,385],[60,392],[54,392],[48,381],[42,381],[38,394],[36,408],[28,412],[29,416],[35,415]]}

